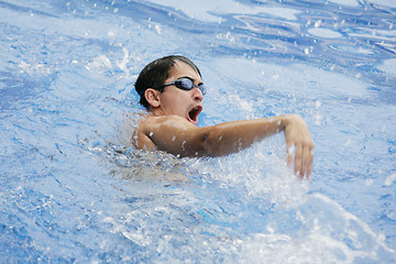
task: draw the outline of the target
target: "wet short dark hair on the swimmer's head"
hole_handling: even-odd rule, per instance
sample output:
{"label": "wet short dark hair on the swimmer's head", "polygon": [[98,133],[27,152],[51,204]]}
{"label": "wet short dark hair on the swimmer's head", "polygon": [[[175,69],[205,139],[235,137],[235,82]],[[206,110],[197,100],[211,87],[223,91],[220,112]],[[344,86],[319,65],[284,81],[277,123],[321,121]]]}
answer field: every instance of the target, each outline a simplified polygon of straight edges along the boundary
{"label": "wet short dark hair on the swimmer's head", "polygon": [[[169,77],[169,72],[175,65],[176,61],[187,64],[195,72],[197,72],[200,77],[202,77],[199,68],[185,56],[170,55],[151,62],[142,69],[134,85],[136,92],[140,95],[140,103],[146,109],[148,109],[150,103],[144,97],[145,90],[164,85],[165,80]],[[164,88],[158,90],[163,92]]]}

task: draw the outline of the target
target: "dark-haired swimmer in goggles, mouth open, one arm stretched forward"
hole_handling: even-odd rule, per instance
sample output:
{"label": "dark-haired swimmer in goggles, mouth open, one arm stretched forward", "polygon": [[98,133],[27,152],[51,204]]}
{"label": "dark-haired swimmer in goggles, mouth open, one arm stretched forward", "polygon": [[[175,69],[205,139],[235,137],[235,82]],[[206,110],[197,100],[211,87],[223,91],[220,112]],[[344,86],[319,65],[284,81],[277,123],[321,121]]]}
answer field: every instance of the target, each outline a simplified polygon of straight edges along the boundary
{"label": "dark-haired swimmer in goggles, mouth open, one arm stretched forward", "polygon": [[309,179],[314,141],[297,114],[197,127],[206,92],[198,67],[187,57],[166,56],[146,65],[135,89],[148,114],[138,124],[133,143],[141,150],[160,150],[176,156],[224,156],[275,133],[284,132],[287,165]]}

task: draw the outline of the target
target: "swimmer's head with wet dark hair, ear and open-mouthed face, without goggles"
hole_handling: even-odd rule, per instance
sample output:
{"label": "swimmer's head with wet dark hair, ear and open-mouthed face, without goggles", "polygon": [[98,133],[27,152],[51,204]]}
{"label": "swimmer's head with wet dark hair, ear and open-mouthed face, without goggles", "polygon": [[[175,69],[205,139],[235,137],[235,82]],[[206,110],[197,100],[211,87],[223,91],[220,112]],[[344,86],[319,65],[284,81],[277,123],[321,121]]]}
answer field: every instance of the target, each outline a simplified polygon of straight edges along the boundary
{"label": "swimmer's head with wet dark hair, ear and open-mouthed face, without goggles", "polygon": [[183,90],[175,85],[163,86],[182,77],[201,85],[198,67],[187,57],[166,56],[155,59],[143,68],[135,82],[140,103],[155,114],[176,114],[197,123],[202,107],[202,92],[197,87]]}

